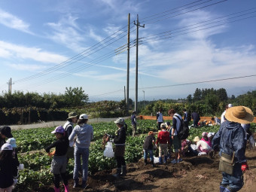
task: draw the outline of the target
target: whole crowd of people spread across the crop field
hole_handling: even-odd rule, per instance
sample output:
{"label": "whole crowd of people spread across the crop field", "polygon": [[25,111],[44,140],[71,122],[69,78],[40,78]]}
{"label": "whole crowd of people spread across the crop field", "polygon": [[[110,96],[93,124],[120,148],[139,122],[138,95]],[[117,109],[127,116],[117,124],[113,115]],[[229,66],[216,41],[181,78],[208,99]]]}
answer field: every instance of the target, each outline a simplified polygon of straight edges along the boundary
{"label": "whole crowd of people spread across the crop field", "polygon": [[[174,159],[170,163],[180,163],[181,157],[200,156],[219,151],[220,170],[223,180],[221,181],[221,192],[238,191],[242,188],[242,173],[248,169],[245,159],[246,139],[248,139],[248,125],[253,120],[251,109],[244,106],[227,105],[217,133],[202,133],[202,137],[196,136],[192,141],[180,139],[179,131],[181,126],[188,126],[190,120],[193,120],[194,126],[198,125],[199,115],[193,112],[190,115],[183,110],[182,118],[174,109],[170,109],[168,114],[172,117],[172,124],[169,121],[164,122],[162,109],[157,113],[158,133],[150,131],[143,145],[145,165],[148,163],[155,166],[154,149],[158,148],[158,163],[167,163],[167,160],[174,153]],[[218,119],[218,118],[217,118]],[[93,126],[87,124],[87,114],[81,114],[79,117],[75,112],[69,113],[66,123],[63,126],[57,126],[53,130],[56,141],[45,148],[49,157],[53,157],[50,172],[53,173],[54,190],[59,191],[59,183],[62,178],[65,192],[69,191],[69,183],[66,174],[66,166],[70,158],[75,159],[73,187],[87,187],[88,160],[90,142],[93,140]],[[136,111],[131,116],[133,126],[133,136],[136,136]],[[75,126],[75,123],[77,125]],[[115,135],[105,134],[106,142],[114,143],[114,158],[117,161],[117,172],[114,177],[126,175],[126,162],[124,158],[126,129],[127,125],[122,117],[114,121],[117,126]],[[6,140],[7,139],[7,140]],[[11,134],[9,126],[0,127],[0,191],[11,191],[17,183],[18,169],[20,167],[17,158],[16,140]],[[52,150],[53,149],[53,150]],[[215,152],[214,152],[215,151]],[[148,155],[150,161],[148,162]],[[228,161],[229,160],[229,161]],[[232,160],[232,162],[230,162]],[[81,174],[81,185],[79,184],[79,175]]]}

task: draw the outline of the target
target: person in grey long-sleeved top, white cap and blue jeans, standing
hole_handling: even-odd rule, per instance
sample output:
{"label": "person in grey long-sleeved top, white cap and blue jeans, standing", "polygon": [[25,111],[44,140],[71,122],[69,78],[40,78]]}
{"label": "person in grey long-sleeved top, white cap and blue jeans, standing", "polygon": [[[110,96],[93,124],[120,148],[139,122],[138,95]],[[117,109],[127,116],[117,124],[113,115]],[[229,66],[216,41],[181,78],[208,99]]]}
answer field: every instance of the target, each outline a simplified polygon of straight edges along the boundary
{"label": "person in grey long-sleeved top, white cap and blue jeans, standing", "polygon": [[69,136],[69,142],[73,142],[75,139],[75,166],[73,172],[74,186],[78,187],[79,175],[78,171],[81,169],[81,157],[83,161],[82,171],[82,188],[87,187],[88,176],[88,160],[89,160],[89,148],[90,142],[93,140],[93,126],[87,124],[87,114],[81,114],[78,119],[78,125],[74,127],[71,135]]}

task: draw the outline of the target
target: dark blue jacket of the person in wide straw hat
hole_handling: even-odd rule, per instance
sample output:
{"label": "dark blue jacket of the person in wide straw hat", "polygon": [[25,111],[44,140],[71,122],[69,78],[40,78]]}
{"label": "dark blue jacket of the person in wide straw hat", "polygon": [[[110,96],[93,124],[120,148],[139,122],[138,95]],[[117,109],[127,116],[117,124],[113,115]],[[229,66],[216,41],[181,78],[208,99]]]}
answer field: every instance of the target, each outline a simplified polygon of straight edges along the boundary
{"label": "dark blue jacket of the person in wide straw hat", "polygon": [[220,130],[215,134],[212,139],[212,148],[219,146],[220,154],[232,155],[235,151],[235,162],[243,163],[245,159],[245,130],[242,129],[240,123],[230,122],[228,120],[221,123]]}

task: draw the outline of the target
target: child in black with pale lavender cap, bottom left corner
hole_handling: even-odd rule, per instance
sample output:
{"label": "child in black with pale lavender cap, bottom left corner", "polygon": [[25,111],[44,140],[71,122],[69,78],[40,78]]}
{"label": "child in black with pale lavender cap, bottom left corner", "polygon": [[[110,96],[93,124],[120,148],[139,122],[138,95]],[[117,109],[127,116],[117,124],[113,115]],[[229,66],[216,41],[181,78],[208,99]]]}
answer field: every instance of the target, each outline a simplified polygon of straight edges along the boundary
{"label": "child in black with pale lavender cap, bottom left corner", "polygon": [[13,148],[9,143],[2,145],[0,152],[0,191],[12,191],[17,163],[13,158]]}

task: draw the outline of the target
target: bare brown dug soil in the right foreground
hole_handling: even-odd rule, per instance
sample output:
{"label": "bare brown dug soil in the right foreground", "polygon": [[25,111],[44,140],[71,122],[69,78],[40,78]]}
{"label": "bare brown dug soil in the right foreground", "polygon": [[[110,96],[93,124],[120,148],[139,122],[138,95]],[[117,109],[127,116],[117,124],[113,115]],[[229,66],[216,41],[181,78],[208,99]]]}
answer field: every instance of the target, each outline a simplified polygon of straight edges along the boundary
{"label": "bare brown dug soil in the right foreground", "polygon": [[[256,134],[255,134],[256,136]],[[249,171],[245,172],[245,184],[241,192],[256,191],[256,149],[247,148],[245,153]],[[184,157],[181,163],[163,165],[144,165],[144,160],[127,164],[127,175],[114,178],[115,170],[104,170],[89,175],[87,189],[72,188],[70,191],[175,191],[175,192],[212,192],[219,191],[221,172],[218,172],[219,156]],[[80,181],[81,182],[81,181]],[[38,191],[54,191],[53,186]],[[64,190],[61,190],[64,191]]]}

